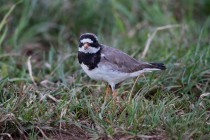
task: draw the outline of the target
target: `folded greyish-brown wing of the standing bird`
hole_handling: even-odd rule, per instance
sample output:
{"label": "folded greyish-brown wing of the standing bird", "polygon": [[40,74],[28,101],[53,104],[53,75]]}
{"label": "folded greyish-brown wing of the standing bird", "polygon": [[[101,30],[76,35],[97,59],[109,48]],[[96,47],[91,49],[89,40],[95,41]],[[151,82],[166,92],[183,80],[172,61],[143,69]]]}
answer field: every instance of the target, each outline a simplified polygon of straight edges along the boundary
{"label": "folded greyish-brown wing of the standing bird", "polygon": [[149,63],[140,63],[120,50],[102,45],[101,62],[111,66],[114,70],[132,73],[149,68]]}

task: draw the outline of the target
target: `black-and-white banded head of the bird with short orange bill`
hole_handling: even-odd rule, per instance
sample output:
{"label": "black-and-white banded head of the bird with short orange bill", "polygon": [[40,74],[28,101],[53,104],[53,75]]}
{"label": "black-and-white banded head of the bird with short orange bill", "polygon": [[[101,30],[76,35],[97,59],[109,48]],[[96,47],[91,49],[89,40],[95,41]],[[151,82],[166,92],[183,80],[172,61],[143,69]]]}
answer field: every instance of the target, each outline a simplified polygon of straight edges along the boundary
{"label": "black-and-white banded head of the bird with short orange bill", "polygon": [[97,53],[100,50],[98,38],[93,33],[84,33],[79,38],[79,51],[83,53]]}

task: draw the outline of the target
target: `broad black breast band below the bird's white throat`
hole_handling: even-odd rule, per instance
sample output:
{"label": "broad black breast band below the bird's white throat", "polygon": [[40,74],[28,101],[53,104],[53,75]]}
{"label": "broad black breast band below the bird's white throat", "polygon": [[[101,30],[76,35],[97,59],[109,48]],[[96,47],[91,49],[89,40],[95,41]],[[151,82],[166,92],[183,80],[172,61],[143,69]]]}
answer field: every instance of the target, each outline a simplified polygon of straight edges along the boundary
{"label": "broad black breast band below the bird's white throat", "polygon": [[84,53],[78,51],[78,60],[80,64],[85,64],[89,70],[92,70],[98,66],[101,59],[101,49],[96,53]]}

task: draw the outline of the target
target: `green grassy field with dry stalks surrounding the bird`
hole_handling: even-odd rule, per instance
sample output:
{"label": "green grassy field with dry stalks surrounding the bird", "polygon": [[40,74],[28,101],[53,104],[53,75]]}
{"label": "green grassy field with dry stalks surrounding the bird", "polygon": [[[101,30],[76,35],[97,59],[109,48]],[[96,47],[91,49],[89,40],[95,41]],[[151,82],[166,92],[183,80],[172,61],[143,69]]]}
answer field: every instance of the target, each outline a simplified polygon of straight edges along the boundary
{"label": "green grassy field with dry stalks surrounding the bird", "polygon": [[[209,0],[1,0],[0,139],[209,139]],[[77,60],[79,36],[167,70],[120,105]],[[148,49],[147,49],[148,48]]]}

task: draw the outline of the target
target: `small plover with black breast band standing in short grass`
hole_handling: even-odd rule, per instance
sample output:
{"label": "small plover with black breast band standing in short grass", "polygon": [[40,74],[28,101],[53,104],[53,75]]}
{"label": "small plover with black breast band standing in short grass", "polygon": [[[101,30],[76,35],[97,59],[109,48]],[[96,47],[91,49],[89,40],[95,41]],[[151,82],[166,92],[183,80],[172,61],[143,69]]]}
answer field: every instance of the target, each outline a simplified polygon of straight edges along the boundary
{"label": "small plover with black breast band standing in short grass", "polygon": [[116,100],[116,86],[126,79],[166,69],[163,63],[140,62],[116,48],[103,45],[94,33],[83,33],[78,48],[78,61],[85,73],[91,79],[108,83],[105,101],[111,90]]}

